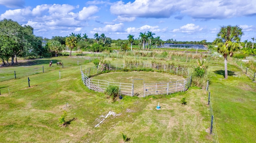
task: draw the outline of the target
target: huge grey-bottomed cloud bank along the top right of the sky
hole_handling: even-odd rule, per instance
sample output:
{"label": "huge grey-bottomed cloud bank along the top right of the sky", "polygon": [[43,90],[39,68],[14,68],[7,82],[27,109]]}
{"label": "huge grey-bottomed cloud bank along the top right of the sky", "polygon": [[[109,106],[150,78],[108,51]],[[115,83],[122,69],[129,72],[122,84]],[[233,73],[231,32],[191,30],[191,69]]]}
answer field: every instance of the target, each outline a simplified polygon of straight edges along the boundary
{"label": "huge grey-bottomed cloud bank along the top right of the sky", "polygon": [[[110,7],[110,12],[122,17],[176,18],[189,15],[194,19],[224,19],[256,14],[256,0],[135,0],[124,3],[118,1]],[[180,17],[182,16],[182,17]]]}

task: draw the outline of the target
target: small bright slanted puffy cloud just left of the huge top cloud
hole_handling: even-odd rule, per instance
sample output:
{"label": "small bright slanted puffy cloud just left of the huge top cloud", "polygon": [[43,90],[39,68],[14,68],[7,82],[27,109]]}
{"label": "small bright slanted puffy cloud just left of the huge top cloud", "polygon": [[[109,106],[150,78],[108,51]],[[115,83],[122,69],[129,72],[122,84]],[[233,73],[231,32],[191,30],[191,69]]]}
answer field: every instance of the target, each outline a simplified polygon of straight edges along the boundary
{"label": "small bright slanted puffy cloud just left of the huge top cloud", "polygon": [[93,14],[97,13],[99,11],[97,6],[89,6],[88,8],[84,7],[79,13],[78,13],[78,20],[86,20]]}

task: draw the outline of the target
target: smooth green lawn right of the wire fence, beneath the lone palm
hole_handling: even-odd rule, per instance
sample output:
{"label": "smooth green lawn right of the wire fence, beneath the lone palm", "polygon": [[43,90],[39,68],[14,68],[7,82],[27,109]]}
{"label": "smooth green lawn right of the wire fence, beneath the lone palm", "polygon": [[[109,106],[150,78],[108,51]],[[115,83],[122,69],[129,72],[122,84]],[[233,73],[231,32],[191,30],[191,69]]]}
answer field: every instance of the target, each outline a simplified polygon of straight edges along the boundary
{"label": "smooth green lawn right of the wire fence, beneath the lone palm", "polygon": [[[231,61],[229,61],[231,63]],[[234,65],[228,65],[224,80],[223,64],[209,66],[210,92],[220,143],[255,143],[256,82]]]}

